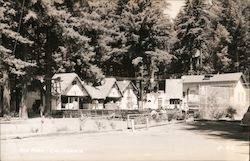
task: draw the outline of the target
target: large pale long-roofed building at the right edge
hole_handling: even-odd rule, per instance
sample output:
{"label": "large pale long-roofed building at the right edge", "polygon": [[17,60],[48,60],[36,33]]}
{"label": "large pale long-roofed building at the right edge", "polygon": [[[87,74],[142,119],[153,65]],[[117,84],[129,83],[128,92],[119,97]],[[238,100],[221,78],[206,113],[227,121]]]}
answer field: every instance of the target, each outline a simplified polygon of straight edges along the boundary
{"label": "large pale long-roofed building at the right edge", "polygon": [[182,76],[183,96],[190,108],[232,106],[238,113],[249,106],[243,73]]}

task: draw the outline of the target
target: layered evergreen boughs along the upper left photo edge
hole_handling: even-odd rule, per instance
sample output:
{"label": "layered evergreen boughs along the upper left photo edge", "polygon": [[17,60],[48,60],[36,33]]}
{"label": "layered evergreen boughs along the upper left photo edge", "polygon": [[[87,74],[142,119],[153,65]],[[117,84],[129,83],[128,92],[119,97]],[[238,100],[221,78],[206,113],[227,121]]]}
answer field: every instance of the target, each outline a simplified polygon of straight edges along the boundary
{"label": "layered evergreen boughs along the upper left photo edge", "polygon": [[[17,76],[27,74],[28,67],[34,67],[35,64],[29,62],[27,58],[23,60],[16,54],[15,43],[30,46],[33,41],[16,32],[18,29],[18,6],[12,1],[0,1],[0,68],[8,70],[9,73]],[[26,54],[26,53],[25,53]],[[1,70],[2,71],[2,70]]]}

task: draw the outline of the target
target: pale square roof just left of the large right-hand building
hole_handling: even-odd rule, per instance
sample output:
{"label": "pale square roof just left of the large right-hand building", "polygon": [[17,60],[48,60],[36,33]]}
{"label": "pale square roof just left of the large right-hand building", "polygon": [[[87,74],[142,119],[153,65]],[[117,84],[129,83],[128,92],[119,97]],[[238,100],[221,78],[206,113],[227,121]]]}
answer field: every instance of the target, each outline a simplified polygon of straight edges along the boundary
{"label": "pale square roof just left of the large right-hand building", "polygon": [[182,80],[166,79],[166,93],[168,98],[182,99]]}

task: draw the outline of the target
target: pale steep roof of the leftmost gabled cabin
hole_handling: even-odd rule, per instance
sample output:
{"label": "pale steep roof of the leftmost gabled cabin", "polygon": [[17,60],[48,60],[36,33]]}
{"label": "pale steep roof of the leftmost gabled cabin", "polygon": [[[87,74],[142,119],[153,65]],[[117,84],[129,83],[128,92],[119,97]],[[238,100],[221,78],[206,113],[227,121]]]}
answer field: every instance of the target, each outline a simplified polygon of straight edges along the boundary
{"label": "pale steep roof of the leftmost gabled cabin", "polygon": [[56,79],[58,77],[60,77],[61,93],[64,93],[67,90],[75,78],[79,79],[81,82],[81,79],[76,73],[57,73],[52,77],[52,79]]}

